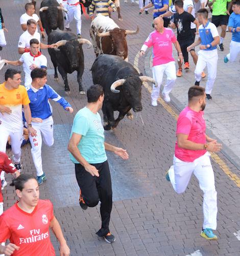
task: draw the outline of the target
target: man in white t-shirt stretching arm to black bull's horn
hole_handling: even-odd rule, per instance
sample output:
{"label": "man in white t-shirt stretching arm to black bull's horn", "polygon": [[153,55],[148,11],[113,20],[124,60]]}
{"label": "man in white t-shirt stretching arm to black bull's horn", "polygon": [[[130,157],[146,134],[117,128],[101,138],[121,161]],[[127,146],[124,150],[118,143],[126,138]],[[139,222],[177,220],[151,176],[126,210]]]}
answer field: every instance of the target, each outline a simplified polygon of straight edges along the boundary
{"label": "man in white t-shirt stretching arm to black bull's horn", "polygon": [[[30,40],[35,38],[40,42],[40,34],[36,31],[37,23],[34,19],[29,19],[27,22],[27,30],[23,32],[18,41],[18,53],[23,54],[30,51]],[[41,49],[57,48],[57,44],[44,45],[40,42]]]}

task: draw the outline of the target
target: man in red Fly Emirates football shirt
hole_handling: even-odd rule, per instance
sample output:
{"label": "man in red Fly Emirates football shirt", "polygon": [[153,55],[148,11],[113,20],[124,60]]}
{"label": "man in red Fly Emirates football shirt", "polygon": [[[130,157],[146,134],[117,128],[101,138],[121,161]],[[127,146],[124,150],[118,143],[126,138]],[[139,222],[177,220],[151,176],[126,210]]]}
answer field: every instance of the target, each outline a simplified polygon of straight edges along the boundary
{"label": "man in red Fly Emirates football shirt", "polygon": [[61,226],[54,216],[52,202],[39,199],[37,180],[32,175],[21,174],[13,182],[19,201],[0,216],[0,242],[10,240],[6,246],[0,245],[0,253],[54,256],[51,227],[60,244],[60,255],[70,255]]}

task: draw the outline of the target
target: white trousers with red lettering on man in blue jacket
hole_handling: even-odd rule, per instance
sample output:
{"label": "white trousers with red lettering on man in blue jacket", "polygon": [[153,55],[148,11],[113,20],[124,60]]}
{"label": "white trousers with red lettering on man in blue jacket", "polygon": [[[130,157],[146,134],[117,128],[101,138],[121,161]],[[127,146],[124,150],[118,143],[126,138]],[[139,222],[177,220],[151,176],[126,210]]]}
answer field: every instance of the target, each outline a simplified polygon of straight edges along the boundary
{"label": "white trousers with red lettering on man in blue jacket", "polygon": [[37,176],[41,176],[43,175],[41,154],[42,139],[47,146],[53,145],[53,118],[50,116],[49,118],[43,119],[42,123],[32,122],[32,126],[37,131],[37,136],[29,136],[32,144],[31,152],[34,165],[37,169]]}

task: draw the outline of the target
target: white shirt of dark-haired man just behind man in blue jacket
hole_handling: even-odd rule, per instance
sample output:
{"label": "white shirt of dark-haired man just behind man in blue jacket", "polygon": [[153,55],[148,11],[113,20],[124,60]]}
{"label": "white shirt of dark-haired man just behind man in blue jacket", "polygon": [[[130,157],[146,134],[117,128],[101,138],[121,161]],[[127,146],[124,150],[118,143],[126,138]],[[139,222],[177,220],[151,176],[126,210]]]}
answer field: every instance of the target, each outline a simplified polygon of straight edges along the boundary
{"label": "white shirt of dark-haired man just behind man in blue jacket", "polygon": [[30,66],[35,64],[38,68],[46,69],[47,60],[46,57],[42,54],[38,57],[34,57],[30,54],[30,52],[25,52],[21,55],[19,61],[23,62],[22,68],[23,72],[25,73],[25,87],[28,89],[32,83],[32,70],[30,69]]}

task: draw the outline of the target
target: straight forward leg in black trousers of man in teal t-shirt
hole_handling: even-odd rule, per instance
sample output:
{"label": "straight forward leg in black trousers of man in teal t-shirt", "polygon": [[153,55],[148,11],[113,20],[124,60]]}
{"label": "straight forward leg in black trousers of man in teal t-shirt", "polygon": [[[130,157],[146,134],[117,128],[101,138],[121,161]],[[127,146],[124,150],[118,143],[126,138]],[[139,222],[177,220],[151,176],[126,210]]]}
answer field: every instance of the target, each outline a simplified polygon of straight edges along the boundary
{"label": "straight forward leg in black trousers of man in teal t-shirt", "polygon": [[97,232],[99,237],[109,233],[109,221],[112,211],[112,182],[108,161],[99,164],[99,179],[97,180],[98,193],[101,201],[100,213],[102,219],[101,229]]}

